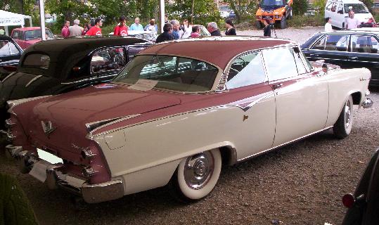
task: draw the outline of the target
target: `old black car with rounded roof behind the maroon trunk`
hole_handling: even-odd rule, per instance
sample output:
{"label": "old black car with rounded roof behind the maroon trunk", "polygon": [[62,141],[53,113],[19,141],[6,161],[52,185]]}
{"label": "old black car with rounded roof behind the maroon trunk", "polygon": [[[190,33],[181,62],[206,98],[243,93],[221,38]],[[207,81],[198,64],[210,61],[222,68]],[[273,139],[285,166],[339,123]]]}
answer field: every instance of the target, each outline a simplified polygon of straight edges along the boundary
{"label": "old black car with rounded roof behind the maroon trunk", "polygon": [[8,117],[6,101],[61,94],[110,81],[136,53],[151,44],[135,37],[82,37],[30,46],[21,56],[17,71],[0,82],[0,120]]}

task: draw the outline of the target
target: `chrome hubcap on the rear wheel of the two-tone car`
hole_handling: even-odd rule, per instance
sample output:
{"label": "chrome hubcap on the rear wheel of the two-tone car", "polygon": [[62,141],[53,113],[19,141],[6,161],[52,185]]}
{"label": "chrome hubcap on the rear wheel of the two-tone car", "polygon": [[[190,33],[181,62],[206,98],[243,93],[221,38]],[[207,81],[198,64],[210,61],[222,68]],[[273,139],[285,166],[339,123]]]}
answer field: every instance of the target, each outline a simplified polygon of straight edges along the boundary
{"label": "chrome hubcap on the rear wheel of the two-tone car", "polygon": [[184,179],[188,187],[200,189],[207,184],[213,174],[214,158],[205,152],[187,158],[184,166]]}

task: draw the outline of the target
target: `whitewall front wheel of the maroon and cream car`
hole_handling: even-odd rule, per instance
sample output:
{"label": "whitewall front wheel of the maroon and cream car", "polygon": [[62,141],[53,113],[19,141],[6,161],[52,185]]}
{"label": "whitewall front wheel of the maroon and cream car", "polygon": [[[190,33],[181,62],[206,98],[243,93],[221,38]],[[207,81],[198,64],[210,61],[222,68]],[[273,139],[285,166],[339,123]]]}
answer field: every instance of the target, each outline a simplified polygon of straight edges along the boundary
{"label": "whitewall front wheel of the maroon and cream car", "polygon": [[338,117],[337,122],[333,125],[333,133],[338,139],[344,139],[352,131],[353,126],[353,98],[349,96]]}

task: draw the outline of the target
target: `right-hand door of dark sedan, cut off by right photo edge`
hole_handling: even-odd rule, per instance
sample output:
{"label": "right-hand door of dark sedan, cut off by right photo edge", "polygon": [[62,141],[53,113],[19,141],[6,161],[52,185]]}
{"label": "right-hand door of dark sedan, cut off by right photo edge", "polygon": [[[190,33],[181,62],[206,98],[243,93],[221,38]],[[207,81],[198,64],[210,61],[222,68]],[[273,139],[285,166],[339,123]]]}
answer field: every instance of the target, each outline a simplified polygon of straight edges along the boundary
{"label": "right-hand door of dark sedan, cut off by right photo edge", "polygon": [[371,35],[352,35],[349,63],[344,68],[368,68],[371,81],[379,84],[379,38]]}

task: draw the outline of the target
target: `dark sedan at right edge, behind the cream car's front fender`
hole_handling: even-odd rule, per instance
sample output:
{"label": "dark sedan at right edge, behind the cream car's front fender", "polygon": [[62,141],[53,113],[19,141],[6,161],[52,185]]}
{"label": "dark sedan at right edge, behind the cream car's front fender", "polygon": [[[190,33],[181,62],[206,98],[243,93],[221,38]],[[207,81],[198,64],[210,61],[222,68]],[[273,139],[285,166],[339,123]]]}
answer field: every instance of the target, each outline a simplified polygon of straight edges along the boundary
{"label": "dark sedan at right edge, behind the cream car's front fender", "polygon": [[309,60],[325,60],[341,68],[368,68],[371,86],[379,86],[379,32],[319,32],[302,44]]}

